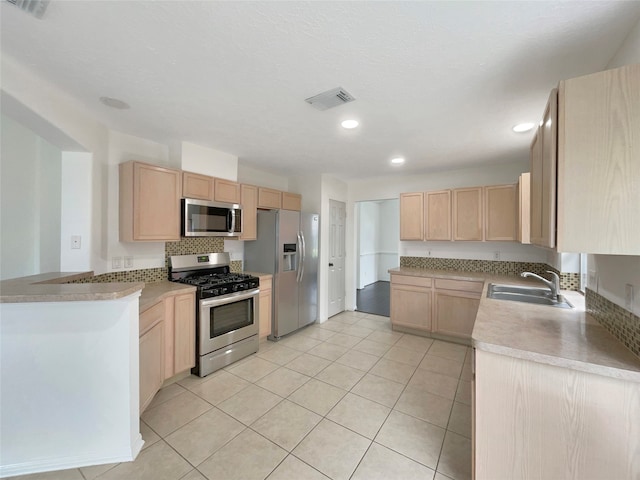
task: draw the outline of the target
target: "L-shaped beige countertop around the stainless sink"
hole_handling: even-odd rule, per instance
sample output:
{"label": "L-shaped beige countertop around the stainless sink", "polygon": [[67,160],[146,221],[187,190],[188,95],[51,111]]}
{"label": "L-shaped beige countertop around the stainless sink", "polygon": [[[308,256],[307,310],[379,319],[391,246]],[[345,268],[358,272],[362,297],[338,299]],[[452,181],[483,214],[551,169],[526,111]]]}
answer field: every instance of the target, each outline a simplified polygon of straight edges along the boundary
{"label": "L-shaped beige countertop around the stainless sink", "polygon": [[389,272],[485,281],[472,334],[478,350],[640,382],[640,359],[585,311],[579,292],[562,291],[575,307],[562,309],[487,298],[490,282],[541,285],[521,277],[405,267]]}

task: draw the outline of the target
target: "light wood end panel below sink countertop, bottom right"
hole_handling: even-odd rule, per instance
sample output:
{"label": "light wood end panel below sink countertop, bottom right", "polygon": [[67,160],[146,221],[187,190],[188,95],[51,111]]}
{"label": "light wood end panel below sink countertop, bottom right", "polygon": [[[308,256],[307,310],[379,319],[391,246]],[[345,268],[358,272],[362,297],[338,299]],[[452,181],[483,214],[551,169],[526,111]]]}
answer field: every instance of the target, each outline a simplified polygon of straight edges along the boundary
{"label": "light wood end panel below sink countertop, bottom right", "polygon": [[640,384],[475,350],[476,480],[639,478]]}

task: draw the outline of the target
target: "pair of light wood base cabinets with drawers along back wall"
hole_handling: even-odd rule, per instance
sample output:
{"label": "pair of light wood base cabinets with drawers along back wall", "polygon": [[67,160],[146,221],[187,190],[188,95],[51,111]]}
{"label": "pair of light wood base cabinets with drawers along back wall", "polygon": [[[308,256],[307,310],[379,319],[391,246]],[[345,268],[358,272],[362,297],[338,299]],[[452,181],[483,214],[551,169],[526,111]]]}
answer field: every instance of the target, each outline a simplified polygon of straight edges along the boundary
{"label": "pair of light wood base cabinets with drawers along back wall", "polygon": [[394,330],[469,344],[483,281],[391,275]]}

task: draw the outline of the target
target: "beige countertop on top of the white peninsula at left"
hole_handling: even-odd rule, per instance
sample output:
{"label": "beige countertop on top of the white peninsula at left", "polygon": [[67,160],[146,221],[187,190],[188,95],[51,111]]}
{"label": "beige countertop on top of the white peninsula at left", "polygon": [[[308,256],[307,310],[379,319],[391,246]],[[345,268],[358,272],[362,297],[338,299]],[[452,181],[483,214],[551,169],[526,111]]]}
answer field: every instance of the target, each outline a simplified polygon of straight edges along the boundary
{"label": "beige countertop on top of the white peninsula at left", "polygon": [[0,282],[0,303],[115,300],[144,288],[144,283],[65,283],[93,272],[50,272]]}

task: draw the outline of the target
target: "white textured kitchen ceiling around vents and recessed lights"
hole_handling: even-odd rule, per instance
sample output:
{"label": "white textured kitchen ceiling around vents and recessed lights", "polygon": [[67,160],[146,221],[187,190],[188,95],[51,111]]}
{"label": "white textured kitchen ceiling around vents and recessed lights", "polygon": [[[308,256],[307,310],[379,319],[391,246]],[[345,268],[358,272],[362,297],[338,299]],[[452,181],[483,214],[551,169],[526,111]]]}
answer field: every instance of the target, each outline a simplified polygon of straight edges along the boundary
{"label": "white textured kitchen ceiling around vents and recessed lights", "polygon": [[[604,69],[640,18],[638,1],[53,0],[41,20],[1,3],[2,54],[109,128],[345,180],[526,158],[532,134],[511,127]],[[356,101],[304,101],[337,86]]]}

